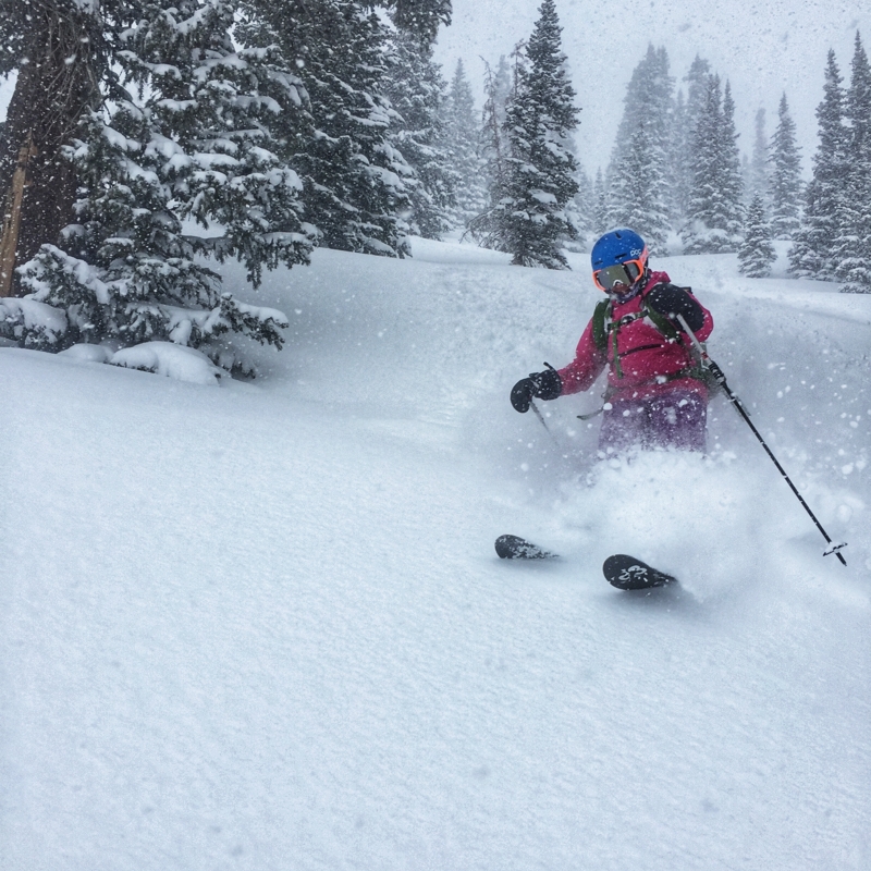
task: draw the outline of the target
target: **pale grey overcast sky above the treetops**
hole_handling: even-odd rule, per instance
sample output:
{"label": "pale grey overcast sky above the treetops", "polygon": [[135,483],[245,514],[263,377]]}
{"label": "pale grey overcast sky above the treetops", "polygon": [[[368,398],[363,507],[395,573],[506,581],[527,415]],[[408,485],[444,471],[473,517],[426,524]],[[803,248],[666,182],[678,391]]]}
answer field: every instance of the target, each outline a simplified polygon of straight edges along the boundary
{"label": "pale grey overcast sky above the treetops", "polygon": [[[483,62],[532,32],[541,0],[453,0],[451,27],[442,28],[437,60],[451,78],[457,58],[466,65],[480,103]],[[849,82],[854,37],[861,30],[871,53],[871,3],[868,0],[640,0],[635,4],[602,0],[556,0],[581,107],[577,133],[585,169],[604,170],[614,144],[626,84],[649,42],[664,46],[672,75],[683,78],[698,53],[722,78],[732,82],[743,150],[753,142],[757,109],[766,111],[774,131],[781,94],[798,128],[806,172],[817,147],[814,110],[822,99],[825,57],[834,48]]]}

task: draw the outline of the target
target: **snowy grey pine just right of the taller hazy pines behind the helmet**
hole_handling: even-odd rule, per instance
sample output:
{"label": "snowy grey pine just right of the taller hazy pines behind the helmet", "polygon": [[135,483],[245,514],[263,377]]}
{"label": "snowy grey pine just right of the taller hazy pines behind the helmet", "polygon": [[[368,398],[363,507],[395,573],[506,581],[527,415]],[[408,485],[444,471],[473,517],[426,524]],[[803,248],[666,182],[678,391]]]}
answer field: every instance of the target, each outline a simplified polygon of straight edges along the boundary
{"label": "snowy grey pine just right of the taller hazy pines behind the helmet", "polygon": [[708,77],[692,142],[692,195],[682,232],[686,254],[735,252],[743,238],[740,157],[728,83]]}

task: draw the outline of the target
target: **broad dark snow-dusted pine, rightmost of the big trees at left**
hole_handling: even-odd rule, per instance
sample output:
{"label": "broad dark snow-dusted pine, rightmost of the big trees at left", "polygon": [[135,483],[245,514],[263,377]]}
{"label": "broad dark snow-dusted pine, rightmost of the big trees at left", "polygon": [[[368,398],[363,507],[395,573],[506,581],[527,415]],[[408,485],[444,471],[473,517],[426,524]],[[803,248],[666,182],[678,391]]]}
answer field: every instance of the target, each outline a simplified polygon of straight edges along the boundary
{"label": "broad dark snow-dusted pine, rightmost of the big trees at left", "polygon": [[[302,79],[310,133],[290,115],[283,156],[303,180],[319,244],[402,257],[408,253],[405,180],[384,95],[389,25],[355,0],[240,0],[247,45],[277,45]],[[275,119],[282,123],[282,116]]]}

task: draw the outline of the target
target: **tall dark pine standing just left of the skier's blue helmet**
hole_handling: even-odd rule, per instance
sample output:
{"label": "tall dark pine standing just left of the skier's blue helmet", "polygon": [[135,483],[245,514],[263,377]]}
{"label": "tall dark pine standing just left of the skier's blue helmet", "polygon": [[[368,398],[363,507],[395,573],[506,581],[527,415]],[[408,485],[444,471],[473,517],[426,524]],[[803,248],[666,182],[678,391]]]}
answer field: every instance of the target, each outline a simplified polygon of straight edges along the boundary
{"label": "tall dark pine standing just left of the skier's blue helmet", "polygon": [[565,208],[578,189],[567,139],[577,124],[553,0],[542,0],[517,69],[505,132],[510,145],[501,224],[515,266],[566,269],[561,240],[575,235]]}

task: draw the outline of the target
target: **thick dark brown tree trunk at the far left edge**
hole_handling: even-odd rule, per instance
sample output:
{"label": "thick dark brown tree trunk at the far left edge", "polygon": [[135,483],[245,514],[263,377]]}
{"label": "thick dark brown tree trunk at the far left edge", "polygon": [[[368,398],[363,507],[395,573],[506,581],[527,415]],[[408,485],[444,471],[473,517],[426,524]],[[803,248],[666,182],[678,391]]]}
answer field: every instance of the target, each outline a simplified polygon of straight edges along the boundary
{"label": "thick dark brown tree trunk at the far left edge", "polygon": [[[91,65],[95,16],[64,0],[37,0],[30,9],[25,62],[9,105],[0,158],[0,201],[9,203],[22,147],[32,140],[36,152],[27,168],[15,266],[29,260],[40,245],[57,244],[73,219],[76,176],[62,147],[98,95]],[[10,247],[10,240],[5,245]]]}

